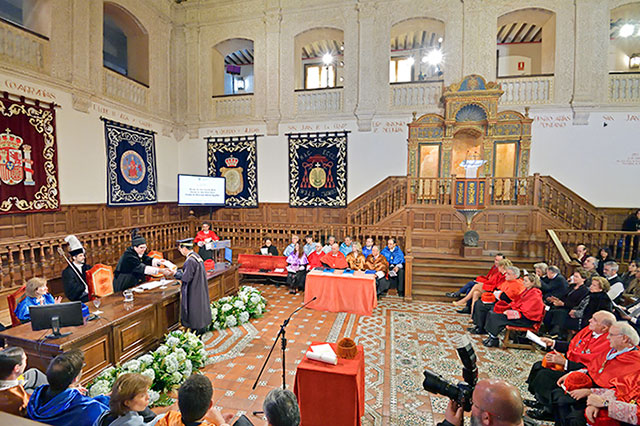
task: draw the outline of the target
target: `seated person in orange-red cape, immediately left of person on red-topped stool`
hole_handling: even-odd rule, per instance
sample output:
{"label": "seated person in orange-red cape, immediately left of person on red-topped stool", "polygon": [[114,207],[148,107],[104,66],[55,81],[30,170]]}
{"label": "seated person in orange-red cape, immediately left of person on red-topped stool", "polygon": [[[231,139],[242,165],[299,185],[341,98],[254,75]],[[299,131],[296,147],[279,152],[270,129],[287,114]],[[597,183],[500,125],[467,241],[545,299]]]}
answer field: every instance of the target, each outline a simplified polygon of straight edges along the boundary
{"label": "seated person in orange-red cape, immediately left of person on red-topped stool", "polygon": [[[504,280],[498,285],[494,292],[487,291],[483,296],[483,300],[476,302],[473,304],[473,311],[471,314],[471,319],[473,320],[474,327],[468,328],[471,334],[487,334],[484,329],[484,324],[487,319],[487,315],[489,312],[493,310],[496,305],[496,300],[502,301],[501,305],[509,304],[516,296],[518,296],[522,291],[524,291],[524,283],[519,278],[520,277],[520,269],[510,265],[504,267],[503,264],[505,259],[498,262],[500,265],[499,268],[504,270],[503,278]],[[509,263],[511,263],[509,261]]]}

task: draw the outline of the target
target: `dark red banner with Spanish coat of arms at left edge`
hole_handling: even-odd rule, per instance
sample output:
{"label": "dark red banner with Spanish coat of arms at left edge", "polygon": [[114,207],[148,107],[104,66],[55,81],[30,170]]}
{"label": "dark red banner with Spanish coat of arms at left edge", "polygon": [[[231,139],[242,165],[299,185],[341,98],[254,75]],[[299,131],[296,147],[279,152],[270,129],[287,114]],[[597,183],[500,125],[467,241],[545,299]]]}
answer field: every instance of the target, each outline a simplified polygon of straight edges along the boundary
{"label": "dark red banner with Spanish coat of arms at left edge", "polygon": [[0,214],[60,209],[54,105],[0,98]]}

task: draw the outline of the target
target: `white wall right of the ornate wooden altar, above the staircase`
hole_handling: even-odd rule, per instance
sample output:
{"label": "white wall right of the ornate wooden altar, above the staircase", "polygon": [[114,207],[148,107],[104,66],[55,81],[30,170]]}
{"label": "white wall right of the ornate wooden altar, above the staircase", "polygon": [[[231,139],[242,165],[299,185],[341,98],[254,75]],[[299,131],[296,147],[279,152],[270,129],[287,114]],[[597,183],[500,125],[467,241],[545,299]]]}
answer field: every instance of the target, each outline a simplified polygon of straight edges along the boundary
{"label": "white wall right of the ornate wooden altar, above the staircase", "polygon": [[530,173],[553,176],[597,207],[640,206],[640,111],[592,113],[586,126],[572,125],[570,110],[532,117]]}

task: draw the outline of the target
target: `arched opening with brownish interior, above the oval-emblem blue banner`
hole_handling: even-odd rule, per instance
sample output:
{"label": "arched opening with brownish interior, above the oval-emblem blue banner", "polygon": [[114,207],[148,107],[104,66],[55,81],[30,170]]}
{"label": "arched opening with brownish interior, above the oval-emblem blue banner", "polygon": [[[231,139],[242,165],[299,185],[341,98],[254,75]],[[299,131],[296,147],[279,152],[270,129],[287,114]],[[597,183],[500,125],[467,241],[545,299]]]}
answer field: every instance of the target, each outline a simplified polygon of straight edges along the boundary
{"label": "arched opening with brownish interior, above the oval-emblem blue banner", "polygon": [[115,3],[104,3],[102,53],[106,68],[149,84],[149,35],[133,15]]}

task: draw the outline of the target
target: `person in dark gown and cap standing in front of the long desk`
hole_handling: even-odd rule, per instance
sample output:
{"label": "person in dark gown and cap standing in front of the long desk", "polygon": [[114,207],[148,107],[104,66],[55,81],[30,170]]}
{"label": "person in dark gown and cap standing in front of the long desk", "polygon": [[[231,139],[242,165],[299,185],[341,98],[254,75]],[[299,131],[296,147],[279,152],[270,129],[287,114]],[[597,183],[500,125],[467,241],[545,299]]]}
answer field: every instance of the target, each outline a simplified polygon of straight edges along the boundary
{"label": "person in dark gown and cap standing in front of the long desk", "polygon": [[178,241],[178,250],[187,259],[175,278],[182,282],[180,287],[180,323],[200,335],[211,324],[209,283],[204,269],[204,261],[193,251],[193,239]]}

